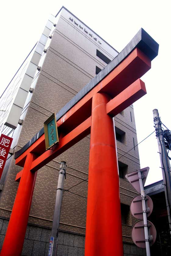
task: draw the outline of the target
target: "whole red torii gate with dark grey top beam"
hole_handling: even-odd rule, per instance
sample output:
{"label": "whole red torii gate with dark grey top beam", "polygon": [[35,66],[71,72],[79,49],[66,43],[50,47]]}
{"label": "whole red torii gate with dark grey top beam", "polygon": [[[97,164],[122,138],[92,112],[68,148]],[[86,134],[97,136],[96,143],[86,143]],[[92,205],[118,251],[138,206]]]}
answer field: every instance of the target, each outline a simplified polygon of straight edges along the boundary
{"label": "whole red torii gate with dark grey top beam", "polygon": [[[91,132],[85,256],[123,256],[119,171],[112,117],[146,94],[139,78],[159,45],[140,29],[130,43],[57,114],[59,144],[45,151],[43,132],[16,152],[23,170],[1,256],[22,253],[37,170]],[[42,134],[41,134],[42,133]],[[98,182],[97,182],[98,181]]]}

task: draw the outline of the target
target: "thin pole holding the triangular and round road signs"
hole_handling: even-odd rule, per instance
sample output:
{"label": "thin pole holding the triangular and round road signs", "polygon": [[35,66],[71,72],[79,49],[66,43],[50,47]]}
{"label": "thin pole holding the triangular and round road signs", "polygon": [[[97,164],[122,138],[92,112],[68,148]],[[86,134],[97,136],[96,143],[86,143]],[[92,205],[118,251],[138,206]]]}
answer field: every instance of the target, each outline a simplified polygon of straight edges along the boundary
{"label": "thin pole holding the triangular and round road signs", "polygon": [[147,254],[147,256],[150,256],[150,243],[149,243],[149,235],[148,235],[147,211],[146,211],[145,193],[144,193],[144,186],[143,186],[143,181],[142,181],[141,170],[138,171],[138,179],[139,179],[139,183],[140,183],[141,199],[142,199],[146,254]]}

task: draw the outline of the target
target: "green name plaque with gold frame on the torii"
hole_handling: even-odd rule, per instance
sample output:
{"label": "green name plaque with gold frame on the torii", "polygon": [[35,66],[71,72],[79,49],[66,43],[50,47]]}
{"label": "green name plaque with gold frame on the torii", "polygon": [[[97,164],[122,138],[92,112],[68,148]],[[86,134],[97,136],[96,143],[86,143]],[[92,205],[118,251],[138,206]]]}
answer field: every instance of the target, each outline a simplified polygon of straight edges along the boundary
{"label": "green name plaque with gold frame on the torii", "polygon": [[51,148],[57,142],[58,138],[58,129],[56,125],[56,115],[53,113],[44,123],[44,132],[45,132],[45,146],[46,150]]}

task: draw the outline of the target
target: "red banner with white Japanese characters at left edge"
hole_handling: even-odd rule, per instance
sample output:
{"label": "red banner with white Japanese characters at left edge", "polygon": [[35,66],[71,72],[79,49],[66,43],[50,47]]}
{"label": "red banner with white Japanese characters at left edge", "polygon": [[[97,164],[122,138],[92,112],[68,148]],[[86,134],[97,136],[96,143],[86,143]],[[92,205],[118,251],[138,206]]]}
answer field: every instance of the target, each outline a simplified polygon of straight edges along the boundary
{"label": "red banner with white Japanese characters at left edge", "polygon": [[5,162],[9,153],[9,149],[11,147],[12,138],[8,137],[4,134],[1,134],[0,137],[0,178],[2,176],[2,172],[4,170]]}

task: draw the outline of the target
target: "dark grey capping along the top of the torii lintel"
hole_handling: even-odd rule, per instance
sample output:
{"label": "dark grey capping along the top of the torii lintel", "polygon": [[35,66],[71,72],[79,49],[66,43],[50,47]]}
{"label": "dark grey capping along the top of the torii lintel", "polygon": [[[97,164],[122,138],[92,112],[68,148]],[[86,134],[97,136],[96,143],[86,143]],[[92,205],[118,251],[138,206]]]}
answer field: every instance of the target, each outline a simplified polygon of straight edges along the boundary
{"label": "dark grey capping along the top of the torii lintel", "polygon": [[[127,46],[96,75],[82,90],[80,90],[57,114],[59,120],[70,108],[72,108],[81,98],[83,98],[94,86],[105,78],[119,63],[124,60],[135,48],[140,49],[149,59],[153,60],[158,55],[159,44],[141,28]],[[27,150],[42,134],[42,128],[27,144],[15,153],[15,159]]]}

